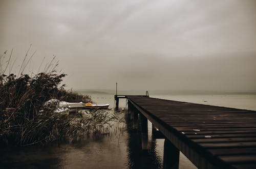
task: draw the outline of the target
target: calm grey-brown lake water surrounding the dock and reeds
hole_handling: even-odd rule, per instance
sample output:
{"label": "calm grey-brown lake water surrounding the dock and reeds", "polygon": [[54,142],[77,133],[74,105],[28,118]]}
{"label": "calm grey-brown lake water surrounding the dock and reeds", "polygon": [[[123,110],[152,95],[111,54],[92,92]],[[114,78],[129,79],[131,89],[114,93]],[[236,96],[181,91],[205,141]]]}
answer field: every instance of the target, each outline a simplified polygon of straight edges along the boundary
{"label": "calm grey-brown lake water surrounding the dock and reeds", "polygon": [[[110,103],[109,94],[90,94],[99,104]],[[152,95],[151,97],[256,110],[256,95]],[[125,107],[125,100],[120,100]],[[124,112],[120,112],[124,116]],[[151,125],[148,123],[148,131]],[[109,135],[97,135],[79,144],[3,149],[0,168],[162,168],[163,139],[148,133],[148,151],[139,151],[139,134],[126,123],[115,123]],[[180,168],[196,168],[183,154]]]}

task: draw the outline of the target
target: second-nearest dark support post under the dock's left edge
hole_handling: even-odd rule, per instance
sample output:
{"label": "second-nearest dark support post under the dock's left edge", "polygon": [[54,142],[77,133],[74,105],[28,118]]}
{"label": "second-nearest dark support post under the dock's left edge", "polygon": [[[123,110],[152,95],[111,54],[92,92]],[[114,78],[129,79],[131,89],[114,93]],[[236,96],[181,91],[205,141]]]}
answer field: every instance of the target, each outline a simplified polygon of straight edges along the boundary
{"label": "second-nearest dark support post under the dock's left edge", "polygon": [[140,125],[141,125],[141,147],[142,150],[148,149],[148,134],[147,134],[147,118],[142,115],[140,115]]}

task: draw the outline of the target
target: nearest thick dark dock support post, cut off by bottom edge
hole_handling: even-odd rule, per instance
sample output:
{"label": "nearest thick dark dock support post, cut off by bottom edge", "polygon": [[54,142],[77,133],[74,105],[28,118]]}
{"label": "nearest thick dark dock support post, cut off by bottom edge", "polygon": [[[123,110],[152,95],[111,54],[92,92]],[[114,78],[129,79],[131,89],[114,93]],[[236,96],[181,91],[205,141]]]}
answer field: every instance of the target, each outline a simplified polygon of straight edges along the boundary
{"label": "nearest thick dark dock support post, cut off by bottom edge", "polygon": [[179,169],[180,151],[168,139],[164,139],[163,168]]}

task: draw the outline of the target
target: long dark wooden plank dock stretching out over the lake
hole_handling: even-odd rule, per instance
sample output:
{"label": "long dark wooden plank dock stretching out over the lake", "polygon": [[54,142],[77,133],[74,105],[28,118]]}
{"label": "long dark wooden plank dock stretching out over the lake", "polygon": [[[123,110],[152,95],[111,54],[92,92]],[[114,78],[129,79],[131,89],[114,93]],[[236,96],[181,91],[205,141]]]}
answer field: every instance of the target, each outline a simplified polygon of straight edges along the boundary
{"label": "long dark wooden plank dock stretching out over the lake", "polygon": [[147,133],[149,120],[163,134],[164,168],[179,167],[180,151],[198,168],[256,168],[256,111],[148,96],[124,98],[132,119],[140,119],[142,132]]}

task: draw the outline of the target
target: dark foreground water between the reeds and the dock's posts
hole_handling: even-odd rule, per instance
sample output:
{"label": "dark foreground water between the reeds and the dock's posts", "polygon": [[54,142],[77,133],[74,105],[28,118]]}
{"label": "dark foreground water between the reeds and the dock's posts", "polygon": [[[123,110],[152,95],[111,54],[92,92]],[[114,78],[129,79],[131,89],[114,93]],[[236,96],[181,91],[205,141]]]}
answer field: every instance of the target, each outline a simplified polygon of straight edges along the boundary
{"label": "dark foreground water between the reeds and the dock's posts", "polygon": [[141,134],[127,122],[126,111],[105,127],[73,143],[2,148],[0,168],[162,168],[156,140],[141,149]]}

